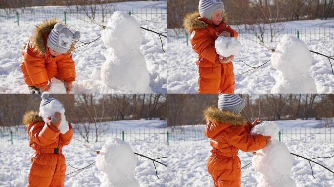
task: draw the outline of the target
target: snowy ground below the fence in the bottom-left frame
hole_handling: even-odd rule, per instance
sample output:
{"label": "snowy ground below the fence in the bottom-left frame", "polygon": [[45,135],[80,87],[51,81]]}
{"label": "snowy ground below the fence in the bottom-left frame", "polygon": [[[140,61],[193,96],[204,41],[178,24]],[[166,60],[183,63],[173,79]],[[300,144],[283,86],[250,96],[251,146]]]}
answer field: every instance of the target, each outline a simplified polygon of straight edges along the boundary
{"label": "snowy ground below the fence in the bottom-left frame", "polygon": [[[132,149],[152,158],[159,158],[167,155],[165,145],[147,144],[141,142],[130,142]],[[101,150],[103,144],[90,144],[95,150]],[[33,150],[28,142],[23,145],[3,146],[0,150],[0,186],[1,187],[23,187],[28,184],[28,173],[30,169],[30,156]],[[70,165],[83,168],[95,161],[96,154],[76,142],[63,148],[63,154],[66,162]],[[167,159],[160,161],[166,163]],[[126,164],[126,163],[125,163]],[[140,187],[166,187],[167,168],[156,165],[158,170],[158,179],[155,175],[155,169],[151,160],[137,156],[137,167],[135,178]],[[66,173],[75,171],[67,165]],[[103,173],[93,164],[85,168],[75,176],[67,176],[65,180],[66,187],[99,187],[101,185]]]}

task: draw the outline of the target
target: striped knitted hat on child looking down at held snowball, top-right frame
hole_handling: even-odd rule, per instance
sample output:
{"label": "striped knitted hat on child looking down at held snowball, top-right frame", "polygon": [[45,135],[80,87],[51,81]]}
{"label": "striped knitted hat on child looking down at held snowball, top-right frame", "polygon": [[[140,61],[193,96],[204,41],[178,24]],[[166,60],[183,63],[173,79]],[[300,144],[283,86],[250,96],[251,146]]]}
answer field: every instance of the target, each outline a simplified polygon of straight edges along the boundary
{"label": "striped knitted hat on child looking down at held snowball, top-right frame", "polygon": [[202,18],[211,19],[211,15],[217,10],[225,12],[224,4],[220,0],[200,0],[198,3],[198,11]]}

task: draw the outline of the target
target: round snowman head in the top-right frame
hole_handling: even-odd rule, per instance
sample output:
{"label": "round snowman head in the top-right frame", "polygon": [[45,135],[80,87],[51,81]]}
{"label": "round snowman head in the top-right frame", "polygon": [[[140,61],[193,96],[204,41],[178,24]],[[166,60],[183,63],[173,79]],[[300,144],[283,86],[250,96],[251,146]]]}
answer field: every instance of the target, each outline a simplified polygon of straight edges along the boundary
{"label": "round snowman head in the top-right frame", "polygon": [[284,36],[271,56],[271,63],[287,78],[293,78],[295,75],[309,74],[312,56],[304,41]]}

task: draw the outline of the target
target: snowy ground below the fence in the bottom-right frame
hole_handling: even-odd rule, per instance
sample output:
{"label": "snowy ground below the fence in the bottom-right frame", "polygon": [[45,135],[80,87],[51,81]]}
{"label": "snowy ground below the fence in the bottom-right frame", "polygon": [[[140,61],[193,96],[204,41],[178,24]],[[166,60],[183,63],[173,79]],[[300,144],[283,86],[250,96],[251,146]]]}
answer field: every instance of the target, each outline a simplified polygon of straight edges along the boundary
{"label": "snowy ground below the fence in the bottom-right frame", "polygon": [[[286,143],[292,153],[305,157],[333,156],[334,143]],[[207,158],[211,147],[209,142],[196,145],[177,145],[167,147],[170,156],[167,159],[168,187],[211,187],[212,179],[207,172]],[[241,166],[251,162],[253,155],[239,151]],[[315,160],[314,160],[315,161]],[[334,168],[334,158],[316,159],[316,162],[328,168]],[[315,179],[312,177],[307,160],[293,156],[292,179],[297,187],[333,187],[333,174],[316,164],[312,164]],[[242,187],[256,187],[260,173],[251,165],[242,169]]]}

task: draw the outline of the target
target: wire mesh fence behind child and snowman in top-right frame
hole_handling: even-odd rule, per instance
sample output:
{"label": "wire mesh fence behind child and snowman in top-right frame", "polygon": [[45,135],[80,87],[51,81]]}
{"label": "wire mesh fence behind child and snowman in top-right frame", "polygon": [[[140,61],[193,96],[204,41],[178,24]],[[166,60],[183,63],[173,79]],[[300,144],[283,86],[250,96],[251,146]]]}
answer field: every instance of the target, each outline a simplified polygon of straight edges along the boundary
{"label": "wire mesh fence behind child and snowman in top-right frame", "polygon": [[[286,28],[276,31],[274,36],[270,30],[264,30],[262,37],[257,37],[251,30],[238,30],[238,40],[243,44],[259,43],[278,43],[285,35],[297,37],[305,42],[324,42],[334,41],[334,28],[329,27],[305,27],[305,28]],[[170,46],[190,46],[190,34],[185,29],[168,29],[167,43]]]}

